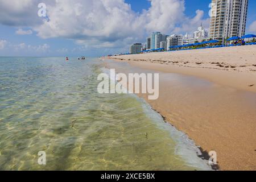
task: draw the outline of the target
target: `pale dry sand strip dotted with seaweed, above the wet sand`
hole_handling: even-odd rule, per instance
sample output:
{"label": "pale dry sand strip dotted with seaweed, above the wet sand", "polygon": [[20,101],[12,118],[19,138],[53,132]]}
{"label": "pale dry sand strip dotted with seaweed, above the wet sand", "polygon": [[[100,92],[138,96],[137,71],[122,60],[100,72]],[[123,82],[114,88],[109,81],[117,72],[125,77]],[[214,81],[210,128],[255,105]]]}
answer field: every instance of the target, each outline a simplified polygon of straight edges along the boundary
{"label": "pale dry sand strip dotted with seaweed, above the wet sand", "polygon": [[152,71],[196,76],[222,86],[256,92],[255,52],[256,46],[240,46],[102,58]]}

